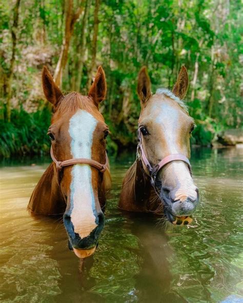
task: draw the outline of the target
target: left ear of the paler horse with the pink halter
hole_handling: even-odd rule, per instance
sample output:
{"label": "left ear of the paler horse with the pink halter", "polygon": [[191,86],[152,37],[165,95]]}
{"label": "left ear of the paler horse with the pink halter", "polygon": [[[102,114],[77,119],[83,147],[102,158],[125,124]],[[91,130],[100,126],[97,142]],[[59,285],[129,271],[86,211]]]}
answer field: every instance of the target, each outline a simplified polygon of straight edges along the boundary
{"label": "left ear of the paler horse with the pink halter", "polygon": [[140,98],[141,105],[151,97],[151,81],[146,67],[142,67],[138,74],[137,94]]}

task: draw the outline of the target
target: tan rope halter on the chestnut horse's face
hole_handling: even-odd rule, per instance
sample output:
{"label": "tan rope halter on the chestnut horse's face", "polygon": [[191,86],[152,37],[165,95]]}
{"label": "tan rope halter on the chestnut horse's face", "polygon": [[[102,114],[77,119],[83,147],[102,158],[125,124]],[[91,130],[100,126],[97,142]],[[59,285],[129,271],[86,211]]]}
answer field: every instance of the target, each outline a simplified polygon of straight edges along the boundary
{"label": "tan rope halter on the chestnut horse's face", "polygon": [[65,160],[65,161],[57,161],[55,156],[53,155],[52,146],[51,146],[50,154],[51,154],[51,159],[56,164],[58,184],[60,184],[60,171],[65,166],[70,166],[70,165],[74,165],[74,164],[88,164],[88,165],[93,166],[94,168],[96,168],[102,174],[104,174],[104,172],[106,171],[107,165],[108,165],[107,154],[106,154],[106,163],[105,164],[100,164],[99,162],[97,162],[95,160],[86,159],[86,158],[76,158],[76,159],[73,158],[73,159],[69,159],[69,160]]}

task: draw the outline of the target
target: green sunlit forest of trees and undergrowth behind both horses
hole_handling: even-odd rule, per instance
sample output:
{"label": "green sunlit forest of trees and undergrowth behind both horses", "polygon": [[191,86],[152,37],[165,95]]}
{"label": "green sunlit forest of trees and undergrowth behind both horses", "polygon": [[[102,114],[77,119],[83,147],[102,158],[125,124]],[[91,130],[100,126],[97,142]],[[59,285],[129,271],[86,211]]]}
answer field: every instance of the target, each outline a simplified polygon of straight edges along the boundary
{"label": "green sunlit forest of trees and undergrowth behind both horses", "polygon": [[242,5],[239,0],[2,0],[0,155],[49,152],[51,109],[44,65],[63,91],[86,94],[98,65],[108,84],[100,107],[110,152],[136,144],[137,74],[148,67],[153,92],[171,89],[181,65],[196,128],[209,145],[242,127]]}

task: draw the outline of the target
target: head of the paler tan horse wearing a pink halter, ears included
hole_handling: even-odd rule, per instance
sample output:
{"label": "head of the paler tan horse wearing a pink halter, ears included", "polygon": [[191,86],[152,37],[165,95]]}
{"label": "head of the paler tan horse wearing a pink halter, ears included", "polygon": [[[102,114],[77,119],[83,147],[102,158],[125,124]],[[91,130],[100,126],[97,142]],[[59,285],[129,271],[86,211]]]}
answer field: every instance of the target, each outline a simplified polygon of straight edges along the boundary
{"label": "head of the paler tan horse wearing a pink halter, ears included", "polygon": [[198,189],[191,176],[190,136],[194,121],[182,101],[188,89],[188,74],[182,67],[172,91],[151,93],[146,68],[138,76],[141,113],[138,120],[141,164],[151,178],[170,222],[190,223],[198,204]]}

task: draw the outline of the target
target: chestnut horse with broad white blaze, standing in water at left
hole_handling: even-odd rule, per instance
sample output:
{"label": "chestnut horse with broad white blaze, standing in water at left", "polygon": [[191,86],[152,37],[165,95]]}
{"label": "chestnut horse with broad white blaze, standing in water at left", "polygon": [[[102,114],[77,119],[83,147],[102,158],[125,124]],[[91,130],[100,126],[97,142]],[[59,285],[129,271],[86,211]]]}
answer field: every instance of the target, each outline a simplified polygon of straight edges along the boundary
{"label": "chestnut horse with broad white blaze, standing in water at left", "polygon": [[88,96],[74,92],[64,96],[45,67],[42,81],[54,107],[48,129],[53,162],[36,185],[28,209],[36,214],[64,214],[70,249],[83,258],[97,246],[104,226],[105,193],[111,186],[108,127],[98,110],[106,95],[105,73],[98,68]]}

